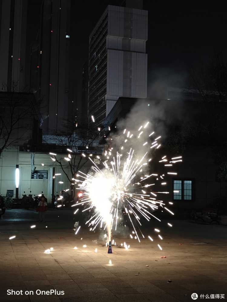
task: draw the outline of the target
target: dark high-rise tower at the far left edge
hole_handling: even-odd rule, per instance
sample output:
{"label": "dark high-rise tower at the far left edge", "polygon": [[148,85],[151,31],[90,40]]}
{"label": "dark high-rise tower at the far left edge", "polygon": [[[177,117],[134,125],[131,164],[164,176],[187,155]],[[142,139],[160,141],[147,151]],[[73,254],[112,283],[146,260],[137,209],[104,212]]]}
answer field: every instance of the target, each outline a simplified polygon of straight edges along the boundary
{"label": "dark high-rise tower at the far left edge", "polygon": [[27,0],[0,0],[0,90],[25,90]]}

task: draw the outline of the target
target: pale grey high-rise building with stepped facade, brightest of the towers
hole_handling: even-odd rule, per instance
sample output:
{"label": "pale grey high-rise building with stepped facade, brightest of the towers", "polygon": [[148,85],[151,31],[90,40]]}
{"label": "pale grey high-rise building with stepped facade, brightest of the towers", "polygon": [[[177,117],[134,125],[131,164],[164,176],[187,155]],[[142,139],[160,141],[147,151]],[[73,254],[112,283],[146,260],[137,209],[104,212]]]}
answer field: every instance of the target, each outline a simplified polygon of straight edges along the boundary
{"label": "pale grey high-rise building with stepped facade, brightest of the towers", "polygon": [[108,5],[89,37],[88,117],[94,115],[97,123],[119,97],[147,95],[148,12],[130,3]]}

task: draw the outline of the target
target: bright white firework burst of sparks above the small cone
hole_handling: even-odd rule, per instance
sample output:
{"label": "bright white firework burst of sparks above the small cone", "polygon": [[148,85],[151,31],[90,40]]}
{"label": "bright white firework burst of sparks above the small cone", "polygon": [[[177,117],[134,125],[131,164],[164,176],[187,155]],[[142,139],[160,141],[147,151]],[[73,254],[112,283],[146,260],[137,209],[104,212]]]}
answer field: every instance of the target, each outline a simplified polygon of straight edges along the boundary
{"label": "bright white firework burst of sparks above the small cone", "polygon": [[[81,171],[77,173],[75,179],[77,190],[83,193],[80,194],[80,200],[72,207],[83,205],[83,212],[94,210],[94,214],[86,224],[93,231],[97,227],[107,230],[108,242],[111,240],[111,231],[119,227],[119,217],[122,214],[127,216],[133,228],[132,233],[135,234],[134,238],[139,242],[141,238],[144,238],[141,218],[147,221],[155,219],[160,222],[161,220],[153,214],[159,208],[174,215],[166,206],[166,202],[161,200],[162,194],[169,192],[156,191],[155,185],[166,185],[166,176],[177,175],[172,168],[175,163],[182,162],[182,156],[171,159],[165,155],[162,156],[159,162],[166,169],[162,175],[157,172],[146,173],[152,161],[150,156],[153,156],[153,152],[161,146],[161,136],[156,136],[154,131],[148,132],[148,125],[149,122],[146,122],[134,133],[124,129],[120,136],[110,137],[110,146],[105,150],[102,158],[97,156],[99,163],[89,157],[93,164],[92,170],[87,174]],[[132,140],[135,142],[135,139],[137,148],[133,148],[131,143]],[[111,145],[117,145],[117,147],[113,148]],[[172,226],[170,223],[168,225]],[[155,231],[160,232],[158,229]],[[161,235],[158,236],[162,239]],[[130,237],[133,238],[131,234]],[[153,241],[152,237],[148,238]],[[159,244],[158,247],[162,249]]]}

